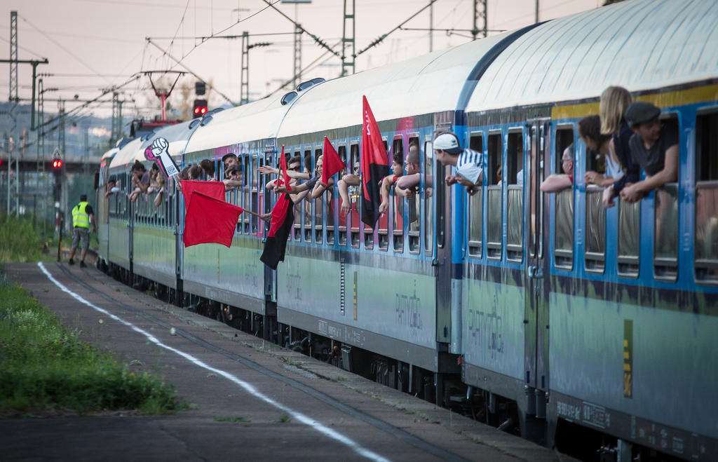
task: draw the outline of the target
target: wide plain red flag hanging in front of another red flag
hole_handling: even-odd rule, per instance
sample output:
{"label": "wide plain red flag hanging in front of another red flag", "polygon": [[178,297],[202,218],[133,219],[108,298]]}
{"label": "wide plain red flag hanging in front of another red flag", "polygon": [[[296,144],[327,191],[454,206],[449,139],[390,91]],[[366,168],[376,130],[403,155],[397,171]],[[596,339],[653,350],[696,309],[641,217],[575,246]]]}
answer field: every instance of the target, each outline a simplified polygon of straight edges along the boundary
{"label": "wide plain red flag hanging in front of another red flag", "polygon": [[[184,185],[182,186],[184,191]],[[190,206],[185,215],[185,235],[182,240],[185,247],[190,245],[217,242],[231,247],[234,230],[242,207],[228,204],[201,192],[193,192]]]}

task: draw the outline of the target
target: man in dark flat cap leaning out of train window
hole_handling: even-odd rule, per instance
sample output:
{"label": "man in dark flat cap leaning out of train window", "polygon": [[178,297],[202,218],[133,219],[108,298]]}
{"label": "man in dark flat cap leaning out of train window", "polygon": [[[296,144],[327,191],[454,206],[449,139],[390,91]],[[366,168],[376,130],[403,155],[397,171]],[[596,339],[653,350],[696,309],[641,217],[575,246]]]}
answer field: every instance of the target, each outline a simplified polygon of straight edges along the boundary
{"label": "man in dark flat cap leaning out of train window", "polygon": [[634,101],[625,113],[633,130],[630,155],[645,171],[645,179],[623,188],[626,202],[638,202],[653,189],[678,179],[678,133],[658,120],[661,109],[651,103]]}

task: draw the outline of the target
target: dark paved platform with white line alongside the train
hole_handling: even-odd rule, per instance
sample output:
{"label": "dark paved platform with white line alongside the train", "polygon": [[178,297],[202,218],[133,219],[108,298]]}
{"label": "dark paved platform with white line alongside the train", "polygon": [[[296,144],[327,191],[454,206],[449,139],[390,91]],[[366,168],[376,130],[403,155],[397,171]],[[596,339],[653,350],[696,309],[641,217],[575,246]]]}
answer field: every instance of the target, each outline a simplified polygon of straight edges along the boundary
{"label": "dark paved platform with white line alongside the train", "polygon": [[2,460],[571,460],[164,304],[94,268],[4,269],[63,324],[131,370],[171,382],[194,406],[167,416],[0,419]]}

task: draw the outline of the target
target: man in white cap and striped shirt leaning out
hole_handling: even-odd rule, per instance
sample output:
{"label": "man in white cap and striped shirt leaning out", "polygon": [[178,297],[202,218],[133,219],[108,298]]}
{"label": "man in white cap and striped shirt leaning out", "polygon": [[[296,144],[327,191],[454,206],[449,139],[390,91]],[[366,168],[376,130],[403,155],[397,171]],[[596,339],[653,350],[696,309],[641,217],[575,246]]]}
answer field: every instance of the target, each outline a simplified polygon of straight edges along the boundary
{"label": "man in white cap and striped shirt leaning out", "polygon": [[483,181],[484,156],[473,149],[462,149],[454,133],[442,133],[434,139],[434,154],[442,165],[456,166],[456,175],[447,175],[446,184],[459,183],[469,195],[476,194]]}

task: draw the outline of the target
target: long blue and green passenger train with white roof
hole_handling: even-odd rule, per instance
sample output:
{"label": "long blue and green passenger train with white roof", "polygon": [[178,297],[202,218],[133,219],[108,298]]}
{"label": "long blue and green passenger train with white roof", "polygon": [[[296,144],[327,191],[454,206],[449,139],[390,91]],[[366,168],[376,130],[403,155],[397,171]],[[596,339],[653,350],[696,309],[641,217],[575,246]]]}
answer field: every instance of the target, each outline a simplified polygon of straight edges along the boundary
{"label": "long blue and green passenger train with white roof", "polygon": [[[99,265],[581,458],[715,460],[717,56],[717,1],[629,0],[138,131],[98,171]],[[680,165],[676,183],[606,209],[583,180],[600,166],[577,121],[610,85],[677,124]],[[236,154],[243,186],[226,200],[269,212],[258,167],[275,166],[281,146],[313,166],[327,136],[360,164],[363,96],[390,153],[420,148],[419,193],[392,196],[375,229],[358,202],[340,212],[334,186],[297,204],[271,270],[256,217],[241,215],[230,248],[184,248],[171,181],[159,207],[127,200],[129,167],[149,166],[144,149],[162,137],[179,166],[210,159],[220,176]],[[444,184],[440,131],[487,159],[477,194]],[[571,144],[573,187],[541,192]],[[121,193],[106,198],[110,177]]]}

